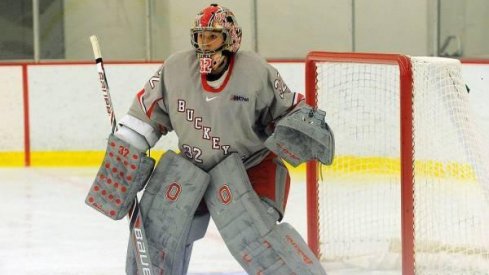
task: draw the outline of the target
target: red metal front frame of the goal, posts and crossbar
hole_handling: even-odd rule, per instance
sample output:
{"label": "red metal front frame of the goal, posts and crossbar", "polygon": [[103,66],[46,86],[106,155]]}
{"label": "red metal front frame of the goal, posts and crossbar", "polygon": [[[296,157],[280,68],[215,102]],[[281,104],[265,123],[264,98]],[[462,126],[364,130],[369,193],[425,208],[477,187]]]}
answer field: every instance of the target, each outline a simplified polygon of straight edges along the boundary
{"label": "red metal front frame of the goal, posts and crossbar", "polygon": [[[412,82],[411,62],[405,55],[373,53],[335,53],[310,52],[306,58],[306,102],[317,107],[317,62],[356,62],[398,65],[400,70],[401,98],[401,169],[402,169],[402,266],[404,274],[414,274],[414,216],[413,216],[413,127],[412,127]],[[334,131],[334,129],[333,129]],[[309,209],[317,209],[318,164],[307,163],[307,203]],[[308,211],[308,243],[311,249],[319,253],[319,218],[317,211]]]}

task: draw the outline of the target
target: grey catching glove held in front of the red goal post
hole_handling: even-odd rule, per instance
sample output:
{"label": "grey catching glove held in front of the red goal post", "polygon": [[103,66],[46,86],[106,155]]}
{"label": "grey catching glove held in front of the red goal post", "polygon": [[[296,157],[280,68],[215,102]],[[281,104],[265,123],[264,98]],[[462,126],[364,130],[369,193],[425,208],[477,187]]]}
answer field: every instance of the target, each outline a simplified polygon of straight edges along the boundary
{"label": "grey catching glove held in front of the red goal post", "polygon": [[278,121],[265,146],[294,167],[313,159],[330,165],[335,144],[325,116],[326,112],[301,102]]}

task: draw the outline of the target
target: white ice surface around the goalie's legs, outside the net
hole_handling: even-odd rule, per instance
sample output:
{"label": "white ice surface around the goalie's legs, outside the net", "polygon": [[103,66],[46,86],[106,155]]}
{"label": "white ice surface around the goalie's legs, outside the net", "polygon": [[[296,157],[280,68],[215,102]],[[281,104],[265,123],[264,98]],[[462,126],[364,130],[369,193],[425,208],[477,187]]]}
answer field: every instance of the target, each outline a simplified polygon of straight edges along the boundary
{"label": "white ice surface around the goalie's legs, outside the net", "polygon": [[[85,205],[96,168],[0,168],[0,274],[125,274],[128,221]],[[294,178],[293,178],[294,180]],[[305,184],[294,182],[284,221],[306,237]],[[246,274],[215,225],[194,245],[189,274]]]}

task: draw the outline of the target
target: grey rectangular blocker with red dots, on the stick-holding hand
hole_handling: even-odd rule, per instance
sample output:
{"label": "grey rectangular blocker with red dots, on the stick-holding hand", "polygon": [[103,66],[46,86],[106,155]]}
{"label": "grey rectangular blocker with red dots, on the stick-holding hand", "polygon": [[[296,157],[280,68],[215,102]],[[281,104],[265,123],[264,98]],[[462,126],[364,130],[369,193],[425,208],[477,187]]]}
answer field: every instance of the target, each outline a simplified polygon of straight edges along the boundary
{"label": "grey rectangular blocker with red dots, on the stick-holding hand", "polygon": [[111,134],[85,203],[114,220],[123,218],[150,177],[154,164],[144,152]]}

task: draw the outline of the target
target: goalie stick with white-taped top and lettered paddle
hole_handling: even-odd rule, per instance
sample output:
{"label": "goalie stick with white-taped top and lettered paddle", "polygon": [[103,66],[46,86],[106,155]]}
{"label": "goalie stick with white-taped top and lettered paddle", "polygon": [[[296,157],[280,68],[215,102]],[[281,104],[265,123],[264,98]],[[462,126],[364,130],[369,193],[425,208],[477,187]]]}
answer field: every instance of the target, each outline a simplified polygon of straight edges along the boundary
{"label": "goalie stick with white-taped top and lettered paddle", "polygon": [[[95,63],[97,65],[97,71],[102,88],[102,94],[105,100],[105,107],[112,126],[112,134],[114,134],[115,131],[117,131],[118,129],[117,121],[115,118],[114,107],[112,105],[112,99],[110,97],[109,84],[107,83],[104,61],[102,59],[102,53],[100,51],[98,38],[95,35],[92,35],[90,36],[90,42],[92,43]],[[130,238],[134,247],[134,253],[136,255],[138,274],[155,274],[152,270],[151,258],[149,256],[149,246],[146,240],[146,234],[144,232],[144,224],[137,197],[134,199],[134,202],[131,206],[131,209],[129,210],[127,217],[129,219]]]}

